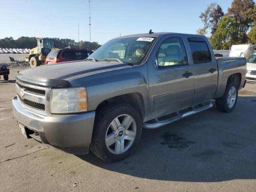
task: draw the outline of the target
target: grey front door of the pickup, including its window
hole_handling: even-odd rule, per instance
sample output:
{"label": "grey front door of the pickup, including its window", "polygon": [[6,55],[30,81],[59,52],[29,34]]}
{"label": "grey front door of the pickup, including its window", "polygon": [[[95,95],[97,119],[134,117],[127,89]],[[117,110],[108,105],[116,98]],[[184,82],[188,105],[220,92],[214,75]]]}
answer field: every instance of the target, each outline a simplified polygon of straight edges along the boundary
{"label": "grey front door of the pickup, including its window", "polygon": [[148,64],[150,113],[160,117],[190,107],[193,74],[182,38],[163,40],[152,64]]}

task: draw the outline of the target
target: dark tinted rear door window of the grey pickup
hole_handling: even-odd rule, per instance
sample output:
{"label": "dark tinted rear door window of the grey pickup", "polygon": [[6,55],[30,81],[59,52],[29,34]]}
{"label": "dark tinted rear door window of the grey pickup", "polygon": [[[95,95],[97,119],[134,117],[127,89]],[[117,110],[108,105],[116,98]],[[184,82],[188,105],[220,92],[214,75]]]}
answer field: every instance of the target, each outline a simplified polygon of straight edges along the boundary
{"label": "dark tinted rear door window of the grey pickup", "polygon": [[189,42],[194,64],[208,63],[211,61],[210,51],[206,42]]}

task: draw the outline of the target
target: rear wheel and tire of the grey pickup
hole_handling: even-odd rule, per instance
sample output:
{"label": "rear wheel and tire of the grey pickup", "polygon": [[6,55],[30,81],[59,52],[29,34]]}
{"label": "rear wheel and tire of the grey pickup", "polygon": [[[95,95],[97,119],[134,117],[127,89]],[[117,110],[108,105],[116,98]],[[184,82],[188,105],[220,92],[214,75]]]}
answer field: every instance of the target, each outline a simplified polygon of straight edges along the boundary
{"label": "rear wheel and tire of the grey pickup", "polygon": [[[229,92],[231,91],[231,93],[232,93],[231,89],[234,90],[234,94],[232,94],[232,96],[230,98]],[[234,95],[235,95],[235,98],[234,98]],[[234,82],[230,82],[226,86],[224,95],[215,100],[216,107],[218,108],[218,110],[220,110],[222,112],[231,112],[236,106],[237,98],[238,98],[237,85]],[[232,103],[228,102],[228,100],[230,100],[230,99],[231,99]]]}

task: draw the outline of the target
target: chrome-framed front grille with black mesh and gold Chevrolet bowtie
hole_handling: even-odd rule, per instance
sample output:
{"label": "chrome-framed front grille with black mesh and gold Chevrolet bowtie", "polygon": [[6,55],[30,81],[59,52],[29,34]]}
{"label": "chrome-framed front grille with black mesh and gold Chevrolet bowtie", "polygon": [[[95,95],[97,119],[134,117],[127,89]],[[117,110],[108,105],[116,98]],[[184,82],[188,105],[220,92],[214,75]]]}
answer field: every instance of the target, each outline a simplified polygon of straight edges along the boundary
{"label": "chrome-framed front grille with black mesh and gold Chevrolet bowtie", "polygon": [[24,108],[37,114],[50,114],[50,88],[16,81],[18,100]]}

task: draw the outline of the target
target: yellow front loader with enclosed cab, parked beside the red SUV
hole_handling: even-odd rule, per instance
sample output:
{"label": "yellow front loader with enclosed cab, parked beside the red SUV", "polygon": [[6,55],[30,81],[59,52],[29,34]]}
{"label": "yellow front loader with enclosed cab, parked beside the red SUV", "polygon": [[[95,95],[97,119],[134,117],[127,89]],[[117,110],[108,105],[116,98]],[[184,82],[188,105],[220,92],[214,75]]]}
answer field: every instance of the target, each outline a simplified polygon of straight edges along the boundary
{"label": "yellow front loader with enclosed cab, parked beside the red SUV", "polygon": [[58,49],[55,48],[54,39],[39,38],[37,39],[37,47],[29,51],[29,56],[26,57],[26,61],[30,62],[31,67],[45,65],[46,56],[54,49]]}

